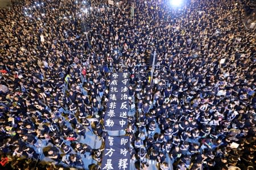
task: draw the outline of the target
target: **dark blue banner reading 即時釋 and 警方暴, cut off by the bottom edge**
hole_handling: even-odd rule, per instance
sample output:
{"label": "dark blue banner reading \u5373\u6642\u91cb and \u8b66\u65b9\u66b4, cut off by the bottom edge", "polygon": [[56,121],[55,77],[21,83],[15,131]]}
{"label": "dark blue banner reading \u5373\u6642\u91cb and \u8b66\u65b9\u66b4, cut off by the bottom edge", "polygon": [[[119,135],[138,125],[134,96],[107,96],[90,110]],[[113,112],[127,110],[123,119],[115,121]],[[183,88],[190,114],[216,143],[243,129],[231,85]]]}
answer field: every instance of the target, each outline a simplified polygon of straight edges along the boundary
{"label": "dark blue banner reading \u5373\u6642\u91cb and \u8b66\u65b9\u66b4, cut off by the bottom edge", "polygon": [[101,163],[101,168],[106,170],[130,169],[130,152],[128,136],[110,137],[106,136],[105,150]]}

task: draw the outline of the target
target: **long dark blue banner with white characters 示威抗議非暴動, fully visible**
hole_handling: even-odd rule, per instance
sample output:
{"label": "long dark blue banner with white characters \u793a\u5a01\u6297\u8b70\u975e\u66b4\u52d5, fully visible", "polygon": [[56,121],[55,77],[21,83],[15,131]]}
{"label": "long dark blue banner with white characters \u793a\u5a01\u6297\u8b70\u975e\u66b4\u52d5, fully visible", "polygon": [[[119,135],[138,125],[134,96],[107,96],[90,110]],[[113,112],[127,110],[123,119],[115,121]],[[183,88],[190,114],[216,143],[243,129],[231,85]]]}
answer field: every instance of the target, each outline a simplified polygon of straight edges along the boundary
{"label": "long dark blue banner with white characters \u793a\u5a01\u6297\u8b70\u975e\u66b4\u52d5, fully visible", "polygon": [[104,117],[106,130],[123,130],[127,126],[129,111],[129,74],[113,73],[109,86],[109,101]]}

